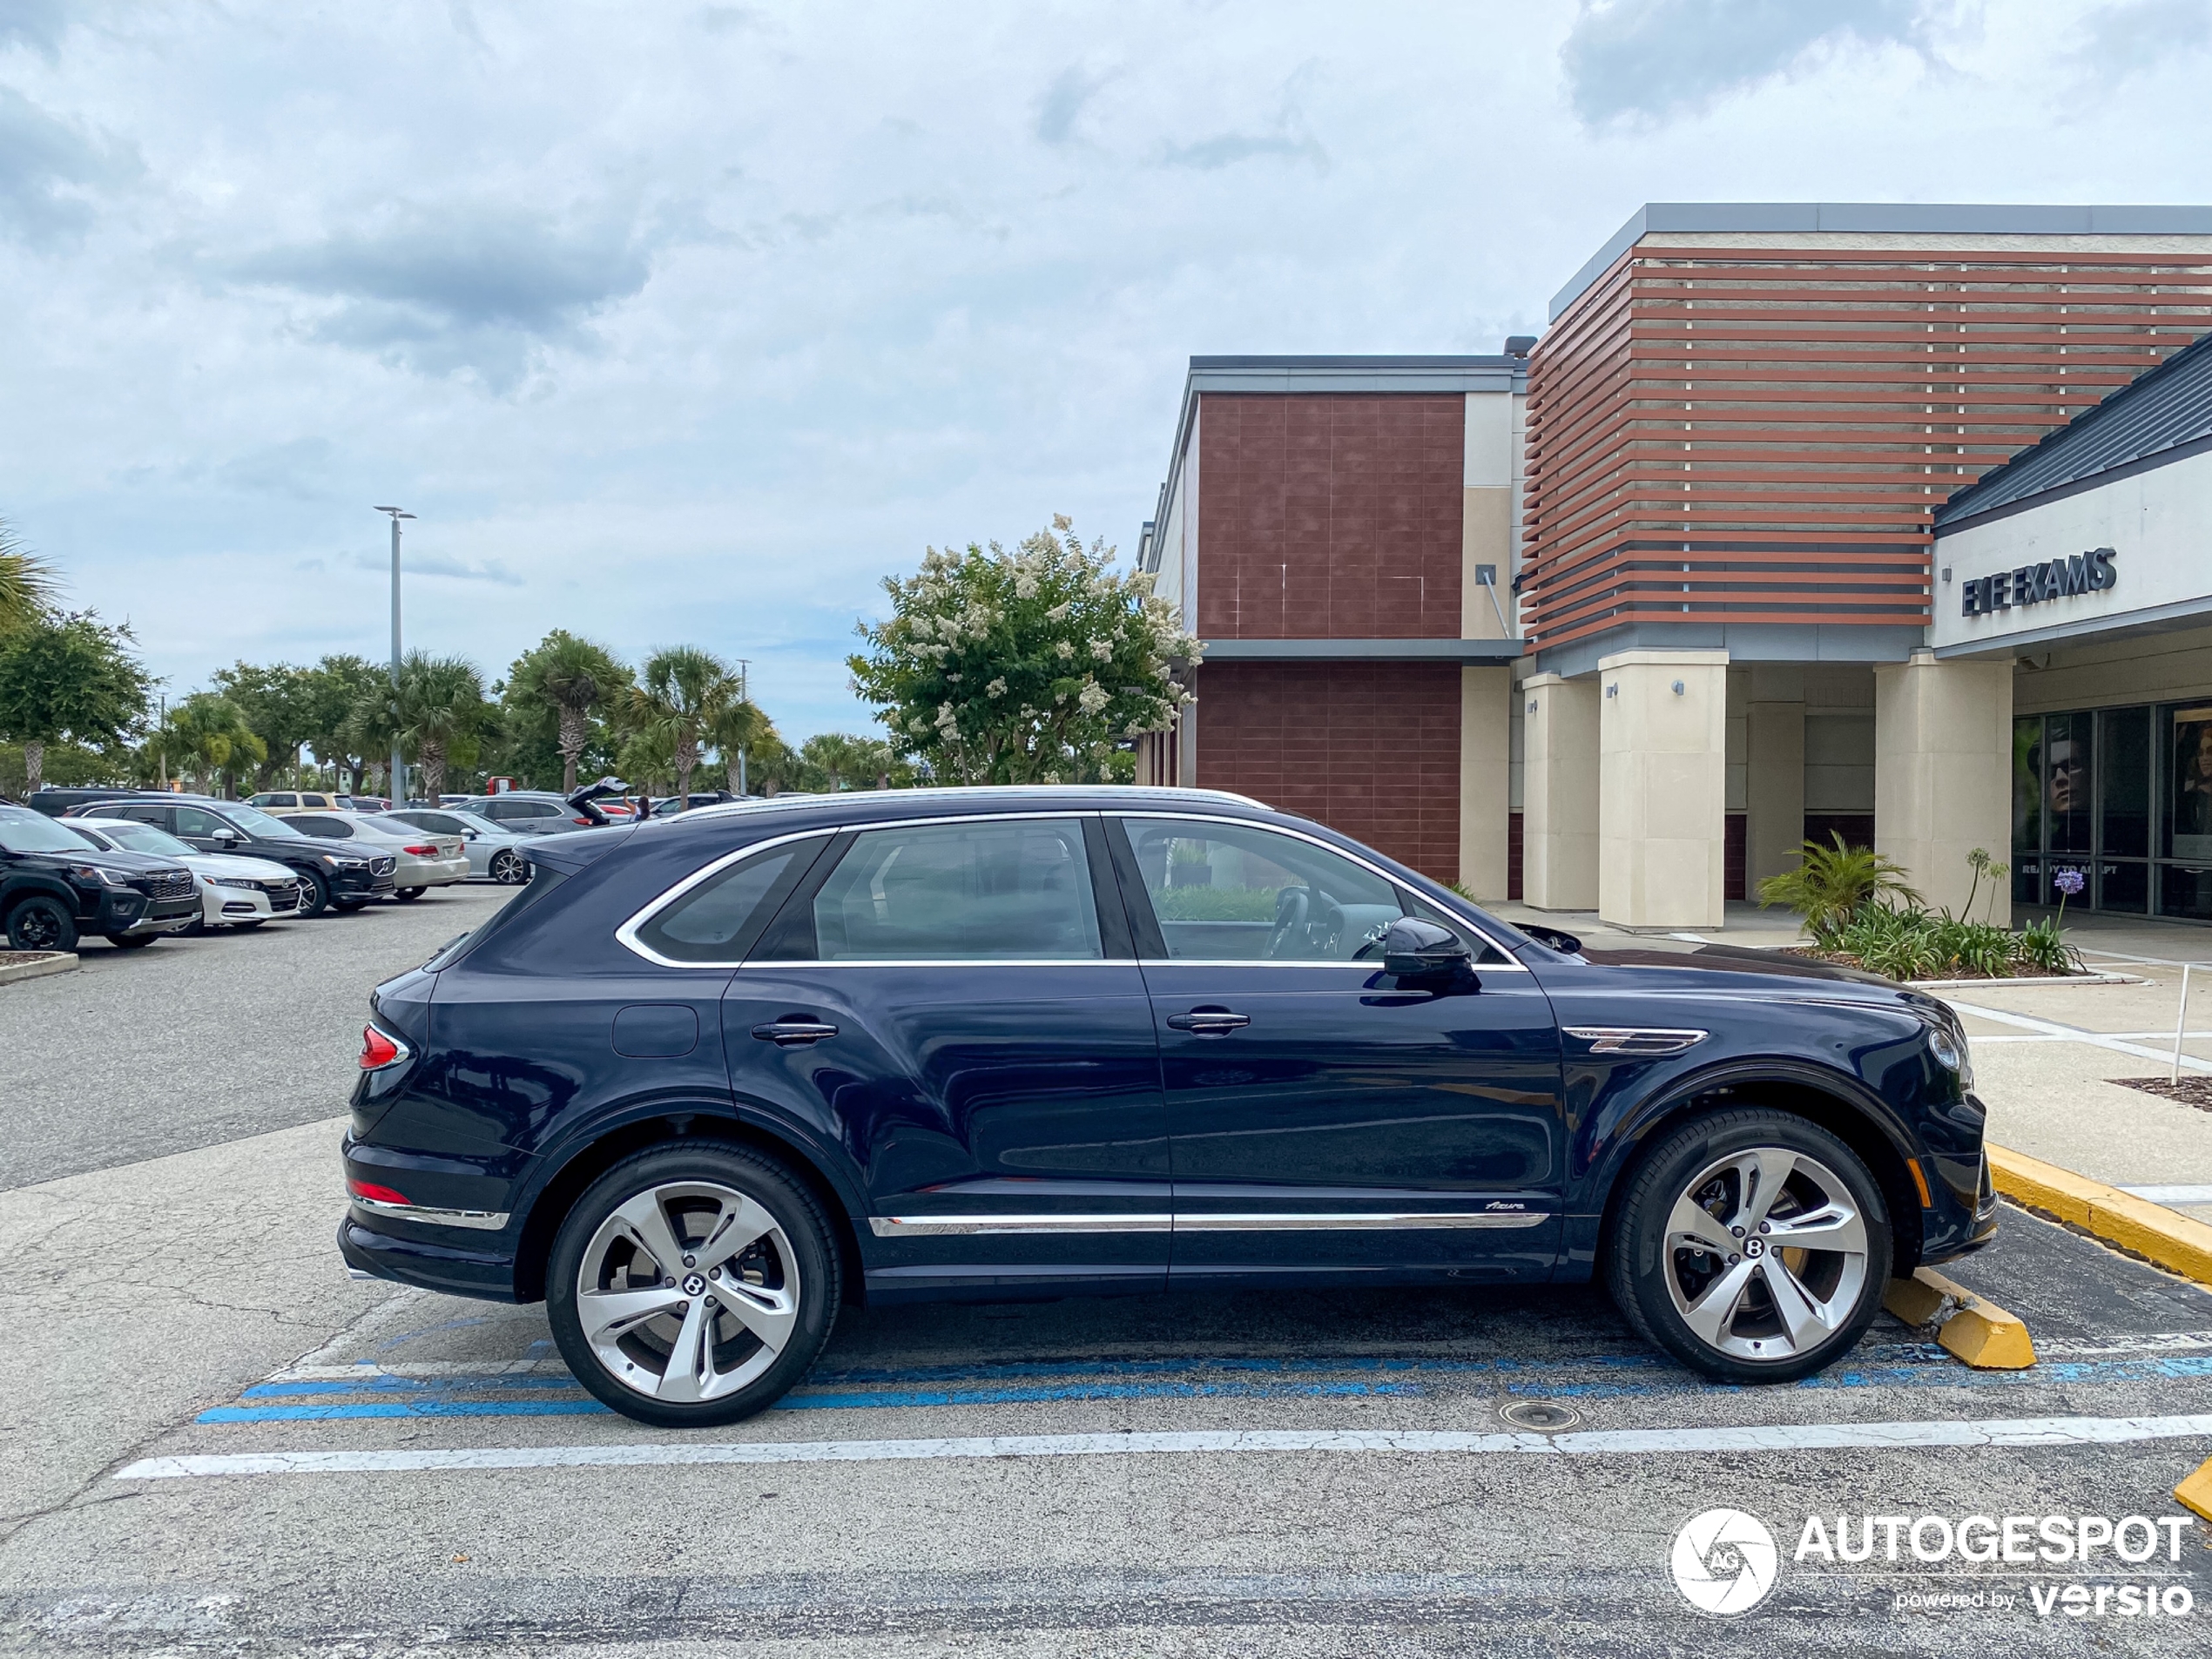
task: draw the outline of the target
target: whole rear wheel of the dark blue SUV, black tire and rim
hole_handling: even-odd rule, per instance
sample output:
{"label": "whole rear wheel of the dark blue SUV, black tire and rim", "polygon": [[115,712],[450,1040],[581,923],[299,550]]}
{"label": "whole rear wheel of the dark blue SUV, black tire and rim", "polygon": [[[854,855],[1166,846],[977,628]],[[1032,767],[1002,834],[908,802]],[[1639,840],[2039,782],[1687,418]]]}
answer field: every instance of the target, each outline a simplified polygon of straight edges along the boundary
{"label": "whole rear wheel of the dark blue SUV, black tire and rim", "polygon": [[[684,1250],[721,1237],[728,1214],[750,1232],[745,1248],[721,1261]],[[743,1303],[721,1279],[732,1261],[745,1272]],[[546,1314],[568,1369],[615,1411],[661,1429],[737,1422],[783,1398],[830,1340],[838,1292],[836,1239],[814,1194],[726,1141],[657,1146],[611,1168],[562,1219],[546,1263]],[[624,1301],[595,1307],[602,1296]],[[699,1340],[706,1332],[712,1343]]]}

